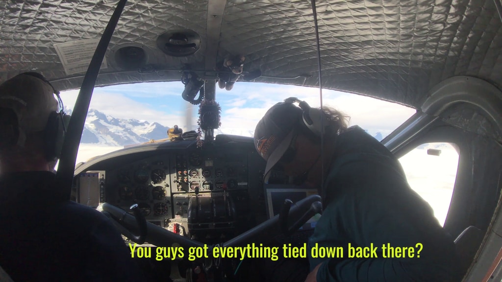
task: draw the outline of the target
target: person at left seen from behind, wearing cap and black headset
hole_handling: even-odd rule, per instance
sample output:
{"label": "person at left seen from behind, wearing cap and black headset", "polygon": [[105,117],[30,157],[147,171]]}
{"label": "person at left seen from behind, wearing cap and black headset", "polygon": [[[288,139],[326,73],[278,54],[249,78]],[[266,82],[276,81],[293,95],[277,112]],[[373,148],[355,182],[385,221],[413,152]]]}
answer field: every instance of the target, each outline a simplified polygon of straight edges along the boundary
{"label": "person at left seen from behind, wearing cap and black headset", "polygon": [[141,281],[109,219],[53,185],[68,120],[54,94],[33,72],[0,85],[0,266],[14,281]]}

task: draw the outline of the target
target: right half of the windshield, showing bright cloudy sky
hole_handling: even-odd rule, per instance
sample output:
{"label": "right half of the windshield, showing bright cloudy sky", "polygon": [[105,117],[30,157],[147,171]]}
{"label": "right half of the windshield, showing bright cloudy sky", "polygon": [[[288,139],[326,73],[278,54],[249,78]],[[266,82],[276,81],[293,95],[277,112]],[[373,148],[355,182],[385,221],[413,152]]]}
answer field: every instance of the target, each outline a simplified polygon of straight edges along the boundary
{"label": "right half of the windshield, showing bright cloudy sky", "polygon": [[[291,96],[305,100],[312,107],[320,106],[318,88],[274,84],[252,87],[250,83],[242,88],[244,93],[241,98],[232,96],[230,102],[222,103],[222,128],[241,127],[254,130],[271,106]],[[234,90],[238,88],[234,87],[232,91]],[[222,96],[229,98],[229,95],[217,95],[220,98]],[[416,112],[415,109],[397,103],[326,89],[323,89],[323,105],[349,115],[351,125],[357,124],[372,132],[381,131],[384,135],[392,132]]]}

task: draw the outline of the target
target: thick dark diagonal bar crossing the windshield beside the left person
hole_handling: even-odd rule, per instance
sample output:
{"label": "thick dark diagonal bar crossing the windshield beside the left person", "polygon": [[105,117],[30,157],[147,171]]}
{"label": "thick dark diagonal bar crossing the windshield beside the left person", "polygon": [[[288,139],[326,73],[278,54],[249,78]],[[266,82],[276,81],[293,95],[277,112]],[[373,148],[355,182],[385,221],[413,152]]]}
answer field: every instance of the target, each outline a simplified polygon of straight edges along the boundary
{"label": "thick dark diagonal bar crossing the windshield beside the left person", "polygon": [[89,103],[91,101],[92,91],[96,83],[99,68],[103,61],[106,49],[110,42],[113,31],[117,26],[118,19],[122,14],[123,8],[126,6],[127,0],[120,0],[113,12],[113,15],[106,26],[106,29],[101,36],[96,51],[92,56],[87,72],[85,73],[80,92],[78,93],[73,114],[68,124],[68,130],[61,149],[61,158],[59,159],[59,167],[56,174],[57,187],[64,187],[65,196],[70,199],[71,187],[73,181],[73,173],[75,171],[75,162],[77,160],[77,152],[82,137],[82,130],[84,128],[85,117],[89,110]]}

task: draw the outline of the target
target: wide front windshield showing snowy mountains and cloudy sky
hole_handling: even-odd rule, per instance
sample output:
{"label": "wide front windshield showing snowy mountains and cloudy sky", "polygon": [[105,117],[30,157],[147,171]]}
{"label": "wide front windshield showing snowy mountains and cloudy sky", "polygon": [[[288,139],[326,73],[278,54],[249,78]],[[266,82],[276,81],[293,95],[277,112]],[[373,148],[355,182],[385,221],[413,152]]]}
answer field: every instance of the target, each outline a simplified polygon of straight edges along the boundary
{"label": "wide front windshield showing snowy mountains and cloudy sky", "polygon": [[[77,163],[112,151],[167,138],[168,128],[197,131],[198,105],[181,98],[181,82],[151,82],[96,87],[89,106]],[[231,91],[216,87],[221,107],[221,126],[216,134],[253,136],[256,124],[275,103],[298,97],[310,106],[320,106],[319,89],[294,85],[239,82]],[[71,113],[79,90],[61,94]],[[370,97],[323,89],[323,105],[350,116],[382,140],[416,111],[400,104]]]}

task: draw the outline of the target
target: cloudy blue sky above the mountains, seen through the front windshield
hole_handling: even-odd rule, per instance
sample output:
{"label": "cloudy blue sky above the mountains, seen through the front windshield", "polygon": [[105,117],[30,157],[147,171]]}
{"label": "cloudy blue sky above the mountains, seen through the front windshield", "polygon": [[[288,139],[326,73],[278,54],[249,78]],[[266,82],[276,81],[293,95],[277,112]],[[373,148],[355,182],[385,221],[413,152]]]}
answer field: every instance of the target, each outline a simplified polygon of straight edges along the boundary
{"label": "cloudy blue sky above the mountains, seen through the front windshield", "polygon": [[[90,108],[117,118],[135,118],[159,122],[165,126],[178,124],[186,130],[185,112],[192,111],[192,127],[196,129],[198,106],[181,97],[181,82],[152,82],[96,87]],[[216,100],[221,113],[224,133],[248,135],[268,108],[287,97],[298,97],[311,106],[319,106],[319,89],[294,85],[237,82],[231,91],[216,86]],[[64,104],[73,108],[78,90],[62,93]],[[337,108],[351,116],[350,124],[357,124],[369,132],[389,134],[416,110],[369,97],[323,89],[323,104]]]}

